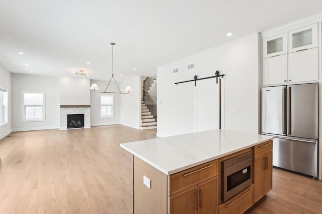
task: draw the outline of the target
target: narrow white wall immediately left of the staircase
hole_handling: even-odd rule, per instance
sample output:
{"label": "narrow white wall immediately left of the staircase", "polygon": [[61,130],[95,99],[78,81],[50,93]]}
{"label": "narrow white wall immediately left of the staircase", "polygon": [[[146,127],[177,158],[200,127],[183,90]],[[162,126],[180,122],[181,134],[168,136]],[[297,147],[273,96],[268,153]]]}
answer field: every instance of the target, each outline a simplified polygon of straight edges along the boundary
{"label": "narrow white wall immediately left of the staircase", "polygon": [[120,94],[120,124],[136,129],[140,128],[141,85],[140,76],[120,83],[121,92],[124,92],[127,86],[131,86],[133,89],[129,94]]}

